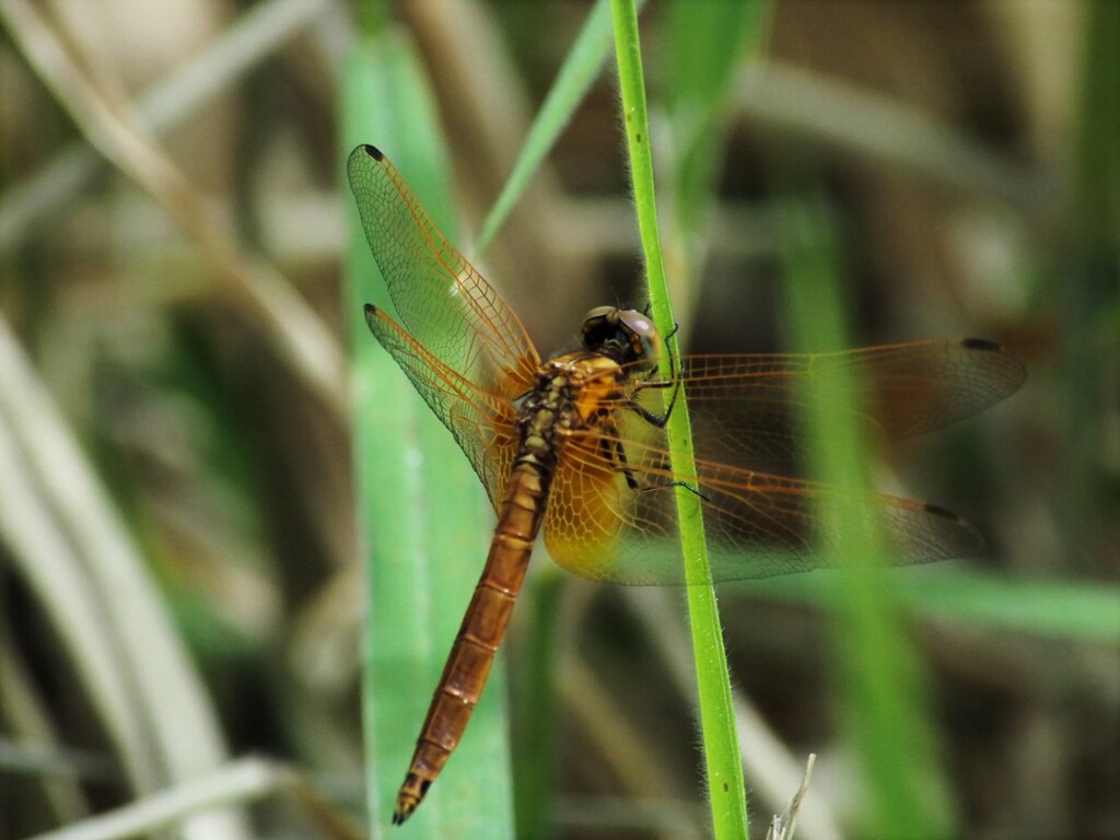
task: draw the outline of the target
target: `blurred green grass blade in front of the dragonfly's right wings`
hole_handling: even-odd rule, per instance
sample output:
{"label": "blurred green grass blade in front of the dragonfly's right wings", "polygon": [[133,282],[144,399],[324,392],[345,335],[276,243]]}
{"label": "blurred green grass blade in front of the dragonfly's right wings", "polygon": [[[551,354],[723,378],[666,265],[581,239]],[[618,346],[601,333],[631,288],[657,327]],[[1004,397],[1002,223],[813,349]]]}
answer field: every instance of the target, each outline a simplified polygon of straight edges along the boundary
{"label": "blurred green grass blade in front of the dragonfly's right wings", "polygon": [[[848,346],[831,216],[814,203],[790,200],[781,211],[793,344],[800,352]],[[820,480],[858,498],[869,492],[870,463],[858,412],[829,410],[859,393],[858,385],[831,379],[806,388],[814,391],[804,401],[810,467]],[[862,776],[861,836],[952,837],[948,792],[921,703],[928,692],[905,642],[890,580],[875,568],[886,566],[883,536],[842,500],[820,504],[822,528],[833,538],[821,550],[836,552],[836,564],[849,569],[834,588],[833,634],[842,726]]]}

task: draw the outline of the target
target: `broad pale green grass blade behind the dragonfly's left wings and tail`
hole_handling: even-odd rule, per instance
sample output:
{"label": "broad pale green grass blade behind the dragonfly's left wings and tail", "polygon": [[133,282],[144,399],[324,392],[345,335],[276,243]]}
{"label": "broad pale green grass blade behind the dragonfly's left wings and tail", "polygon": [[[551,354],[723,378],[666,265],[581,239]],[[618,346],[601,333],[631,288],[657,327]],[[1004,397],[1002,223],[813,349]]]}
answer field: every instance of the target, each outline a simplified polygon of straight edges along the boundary
{"label": "broad pale green grass blade behind the dragonfly's left wings and tail", "polygon": [[[447,157],[411,46],[393,31],[361,43],[344,72],[343,149],[374,142],[454,241]],[[354,433],[368,561],[364,717],[368,811],[385,831],[431,692],[486,552],[492,515],[447,430],[370,335],[362,305],[388,304],[353,197],[346,311],[354,348]],[[394,837],[512,836],[505,685],[500,663],[467,735]]]}

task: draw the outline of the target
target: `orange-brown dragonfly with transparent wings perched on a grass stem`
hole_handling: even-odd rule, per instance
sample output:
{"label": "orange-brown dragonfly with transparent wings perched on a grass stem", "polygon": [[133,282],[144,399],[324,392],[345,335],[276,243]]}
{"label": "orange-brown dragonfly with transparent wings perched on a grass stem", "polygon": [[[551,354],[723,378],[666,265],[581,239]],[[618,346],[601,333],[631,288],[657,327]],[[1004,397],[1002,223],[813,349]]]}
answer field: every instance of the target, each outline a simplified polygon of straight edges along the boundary
{"label": "orange-brown dragonfly with transparent wings perched on a grass stem", "polygon": [[[713,580],[822,568],[834,562],[822,550],[833,539],[822,504],[847,496],[745,466],[795,457],[808,381],[857,383],[850,407],[829,410],[858,411],[902,438],[983,410],[1026,375],[982,339],[675,358],[645,314],[616,307],[588,312],[581,348],[542,360],[510,304],[440,234],[381,150],[355,148],[347,176],[400,320],[367,304],[366,323],[450,430],[497,515],[394,824],[416,811],[461,740],[542,529],[552,559],[585,578],[683,584],[675,494],[685,488],[701,503]],[[665,436],[680,401],[698,429],[687,473],[674,469]],[[982,547],[976,530],[933,504],[874,495],[843,510],[880,529],[892,563]]]}

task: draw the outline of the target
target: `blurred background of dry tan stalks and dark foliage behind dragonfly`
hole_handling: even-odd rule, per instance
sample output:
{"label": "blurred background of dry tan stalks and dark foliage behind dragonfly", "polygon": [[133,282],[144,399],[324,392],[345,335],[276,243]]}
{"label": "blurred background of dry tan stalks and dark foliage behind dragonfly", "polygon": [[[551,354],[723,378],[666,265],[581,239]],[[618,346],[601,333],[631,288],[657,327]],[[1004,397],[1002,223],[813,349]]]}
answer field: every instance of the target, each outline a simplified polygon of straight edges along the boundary
{"label": "blurred background of dry tan stalks and dark foliage behind dragonfly", "polygon": [[[899,578],[931,795],[958,836],[1116,837],[1120,4],[775,0],[736,24],[757,40],[715,37],[707,6],[642,18],[684,346],[788,347],[793,194],[829,207],[855,342],[976,335],[1026,362],[1020,394],[877,466],[884,489],[944,503],[992,545]],[[355,534],[377,524],[354,501],[343,59],[362,26],[414,48],[469,255],[590,12],[0,0],[0,838],[250,753],[364,819]],[[701,77],[726,50],[734,73]],[[644,299],[604,66],[478,262],[544,353],[591,306]],[[682,91],[707,91],[702,119]],[[468,579],[482,559],[458,560]],[[810,752],[820,810],[799,836],[861,836],[836,585],[721,591],[759,837]],[[510,641],[522,836],[703,837],[679,594],[532,589]],[[318,806],[262,767],[251,821],[185,833],[319,836]]]}

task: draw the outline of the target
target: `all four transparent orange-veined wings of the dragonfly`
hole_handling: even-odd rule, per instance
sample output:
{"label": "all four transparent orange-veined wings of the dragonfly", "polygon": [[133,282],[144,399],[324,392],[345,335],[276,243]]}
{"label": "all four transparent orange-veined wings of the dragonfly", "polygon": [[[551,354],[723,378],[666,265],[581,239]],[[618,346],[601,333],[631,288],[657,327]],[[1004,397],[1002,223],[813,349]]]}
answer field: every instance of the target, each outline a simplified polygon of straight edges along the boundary
{"label": "all four transparent orange-veined wings of the dragonfly", "polygon": [[[516,456],[519,398],[538,381],[540,357],[510,306],[436,230],[400,172],[373,147],[347,172],[366,237],[402,320],[367,307],[366,319],[463,448],[495,508]],[[893,561],[977,553],[963,521],[921,502],[855,496],[762,468],[796,463],[806,409],[853,412],[902,438],[970,417],[1014,393],[1023,365],[989,342],[933,340],[840,353],[684,356],[678,371],[696,429],[694,475],[675,474],[661,417],[673,385],[625,379],[594,421],[561,436],[544,539],[564,568],[617,584],[681,580],[674,493],[703,500],[718,580],[819,568],[834,552],[824,503],[842,503],[887,538]],[[830,388],[808,388],[825,384]],[[812,400],[838,393],[827,407]],[[577,401],[578,394],[572,394]],[[643,417],[635,407],[641,407]],[[633,486],[632,486],[633,485]]]}

